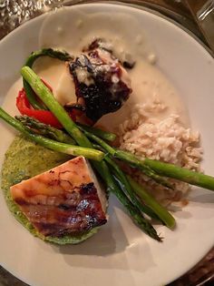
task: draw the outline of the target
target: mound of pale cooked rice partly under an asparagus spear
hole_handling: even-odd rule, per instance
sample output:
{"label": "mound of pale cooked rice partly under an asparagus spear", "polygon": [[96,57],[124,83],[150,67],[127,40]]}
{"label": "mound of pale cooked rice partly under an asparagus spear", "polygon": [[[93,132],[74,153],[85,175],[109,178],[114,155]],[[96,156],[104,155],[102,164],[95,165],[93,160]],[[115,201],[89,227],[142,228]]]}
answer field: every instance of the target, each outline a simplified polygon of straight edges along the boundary
{"label": "mound of pale cooked rice partly under an asparagus spear", "polygon": [[[199,170],[202,148],[199,147],[199,132],[186,128],[180,116],[151,117],[161,115],[166,109],[160,100],[154,99],[150,104],[136,105],[130,119],[119,127],[120,148],[130,151],[140,158],[152,158],[176,164],[191,170]],[[142,175],[136,169],[128,172],[144,185],[164,205],[180,201],[189,191],[187,183],[169,179],[176,191],[166,189]]]}

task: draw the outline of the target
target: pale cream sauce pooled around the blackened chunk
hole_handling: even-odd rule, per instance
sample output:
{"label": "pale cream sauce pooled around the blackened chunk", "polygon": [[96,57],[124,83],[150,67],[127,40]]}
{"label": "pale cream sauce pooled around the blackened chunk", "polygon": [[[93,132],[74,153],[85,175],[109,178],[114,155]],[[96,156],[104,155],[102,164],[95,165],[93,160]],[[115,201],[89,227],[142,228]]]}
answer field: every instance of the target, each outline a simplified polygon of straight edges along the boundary
{"label": "pale cream sauce pooled around the blackened chunk", "polygon": [[[186,108],[177,90],[155,65],[158,59],[147,41],[146,27],[139,31],[139,24],[131,15],[118,14],[115,17],[104,12],[83,14],[75,10],[71,16],[71,11],[63,8],[46,17],[41,28],[39,44],[41,47],[61,48],[75,56],[95,38],[107,40],[113,47],[114,55],[120,59],[131,59],[136,62],[136,65],[128,70],[131,77],[131,97],[119,111],[102,117],[98,124],[114,130],[130,116],[135,104],[147,104],[154,98],[159,98],[167,108],[161,115],[151,112],[151,117],[167,117],[175,113],[180,115],[180,120],[185,125],[189,125]],[[41,58],[34,68],[53,87],[54,94],[68,93],[71,95],[71,101],[75,99],[72,79],[64,77],[64,63]],[[11,93],[17,93],[20,87],[21,81],[11,88],[6,98],[10,98]]]}

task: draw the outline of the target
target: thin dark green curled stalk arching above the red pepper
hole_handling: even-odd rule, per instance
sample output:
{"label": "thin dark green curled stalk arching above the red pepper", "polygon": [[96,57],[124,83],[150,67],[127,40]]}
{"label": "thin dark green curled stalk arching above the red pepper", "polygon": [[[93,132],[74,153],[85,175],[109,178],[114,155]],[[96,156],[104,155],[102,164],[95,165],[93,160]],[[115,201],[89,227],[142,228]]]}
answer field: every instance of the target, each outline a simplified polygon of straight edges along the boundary
{"label": "thin dark green curled stalk arching above the red pepper", "polygon": [[[34,61],[40,57],[40,56],[50,56],[53,58],[58,58],[62,61],[69,61],[73,59],[72,56],[70,56],[68,53],[59,51],[59,50],[53,50],[52,48],[44,48],[38,51],[33,52],[26,60],[24,66],[32,67],[34,65]],[[31,86],[26,82],[26,80],[23,80],[23,86],[26,93],[26,96],[35,109],[46,109],[43,103],[38,102],[36,100],[36,97],[34,96],[34,90],[31,88]]]}

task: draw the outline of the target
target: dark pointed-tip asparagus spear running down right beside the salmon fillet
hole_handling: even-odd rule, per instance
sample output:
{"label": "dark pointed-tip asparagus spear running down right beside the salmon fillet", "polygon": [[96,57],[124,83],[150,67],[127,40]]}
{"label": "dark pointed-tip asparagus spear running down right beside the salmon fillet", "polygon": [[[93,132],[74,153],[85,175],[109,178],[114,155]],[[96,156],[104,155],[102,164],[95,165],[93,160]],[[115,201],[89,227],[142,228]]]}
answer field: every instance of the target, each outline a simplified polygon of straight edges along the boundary
{"label": "dark pointed-tip asparagus spear running down right beside the salmon fillet", "polygon": [[[97,164],[97,163],[96,163]],[[122,189],[116,184],[112,178],[112,174],[104,161],[99,162],[97,169],[102,179],[106,182],[107,188],[121,201],[122,205],[128,210],[134,223],[152,239],[161,241],[157,231],[152,227],[151,223],[146,220],[139,209],[137,209],[131,201],[122,192]]]}

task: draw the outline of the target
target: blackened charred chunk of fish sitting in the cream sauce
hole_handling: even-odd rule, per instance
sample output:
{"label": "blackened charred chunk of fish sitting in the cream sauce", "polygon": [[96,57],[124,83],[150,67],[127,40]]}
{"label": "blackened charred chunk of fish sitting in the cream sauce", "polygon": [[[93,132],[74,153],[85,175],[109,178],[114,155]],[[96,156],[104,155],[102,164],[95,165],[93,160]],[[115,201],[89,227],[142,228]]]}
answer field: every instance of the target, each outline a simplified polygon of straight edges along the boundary
{"label": "blackened charred chunk of fish sitting in the cream sauce", "polygon": [[131,82],[112,51],[94,42],[87,52],[69,62],[69,71],[77,100],[83,98],[86,117],[96,122],[122,107],[131,94]]}

